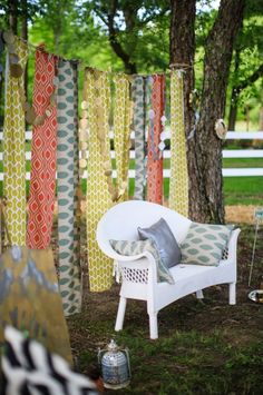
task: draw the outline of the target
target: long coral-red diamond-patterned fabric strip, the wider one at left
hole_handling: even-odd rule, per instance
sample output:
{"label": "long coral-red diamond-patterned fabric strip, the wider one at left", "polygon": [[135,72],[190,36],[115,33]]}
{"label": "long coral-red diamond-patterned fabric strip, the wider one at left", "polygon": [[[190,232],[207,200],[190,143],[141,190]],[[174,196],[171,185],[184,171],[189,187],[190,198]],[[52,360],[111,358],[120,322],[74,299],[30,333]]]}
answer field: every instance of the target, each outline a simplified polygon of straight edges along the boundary
{"label": "long coral-red diamond-patterned fabric strip, the wider one at left", "polygon": [[50,108],[56,90],[55,56],[36,51],[33,109],[46,118],[32,130],[31,181],[27,244],[30,248],[47,248],[51,239],[56,187],[57,108]]}

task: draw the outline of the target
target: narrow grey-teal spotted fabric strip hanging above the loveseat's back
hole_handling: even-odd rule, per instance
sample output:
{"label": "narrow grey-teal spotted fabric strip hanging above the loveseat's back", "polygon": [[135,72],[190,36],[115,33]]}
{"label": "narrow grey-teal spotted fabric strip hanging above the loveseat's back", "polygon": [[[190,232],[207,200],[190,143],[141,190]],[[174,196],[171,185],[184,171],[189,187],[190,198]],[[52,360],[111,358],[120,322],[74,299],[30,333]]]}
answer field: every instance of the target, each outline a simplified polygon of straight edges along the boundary
{"label": "narrow grey-teal spotted fabric strip hanging above the loveseat's back", "polygon": [[134,198],[144,200],[145,185],[145,79],[136,76],[132,85],[135,131],[135,191]]}

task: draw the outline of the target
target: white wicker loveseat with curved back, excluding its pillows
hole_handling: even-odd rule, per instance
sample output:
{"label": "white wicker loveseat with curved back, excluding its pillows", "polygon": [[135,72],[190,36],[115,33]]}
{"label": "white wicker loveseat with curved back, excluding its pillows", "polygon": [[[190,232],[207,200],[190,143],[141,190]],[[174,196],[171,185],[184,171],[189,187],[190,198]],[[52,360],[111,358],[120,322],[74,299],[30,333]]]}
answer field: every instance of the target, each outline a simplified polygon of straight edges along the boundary
{"label": "white wicker loveseat with curved back, excluding its pillows", "polygon": [[[172,267],[174,285],[157,283],[157,271],[152,254],[123,256],[110,246],[109,239],[136,240],[137,227],[148,227],[163,217],[181,244],[191,226],[191,220],[167,207],[142,200],[128,200],[111,207],[100,219],[97,227],[97,241],[104,254],[115,259],[121,277],[120,299],[115,330],[123,329],[126,302],[140,299],[147,302],[149,335],[158,338],[158,312],[171,303],[196,293],[203,298],[203,289],[217,284],[228,284],[228,303],[236,303],[236,244],[240,229],[231,234],[218,266],[176,265]],[[183,266],[183,267],[182,267]]]}

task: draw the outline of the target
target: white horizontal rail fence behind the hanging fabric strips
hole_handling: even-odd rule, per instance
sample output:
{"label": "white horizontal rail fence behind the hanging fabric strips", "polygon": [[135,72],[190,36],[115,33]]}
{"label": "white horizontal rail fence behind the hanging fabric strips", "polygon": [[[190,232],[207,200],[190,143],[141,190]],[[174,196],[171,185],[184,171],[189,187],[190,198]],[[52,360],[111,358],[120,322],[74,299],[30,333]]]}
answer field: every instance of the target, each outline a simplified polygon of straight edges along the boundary
{"label": "white horizontal rail fence behind the hanging fabric strips", "polygon": [[[2,140],[3,134],[0,132],[0,140]],[[26,132],[26,140],[31,140],[31,131]],[[133,138],[133,134],[132,134]],[[226,134],[227,140],[263,140],[263,131],[228,131]],[[111,151],[111,158],[115,157],[115,152]],[[130,159],[134,159],[135,152],[130,150]],[[164,158],[171,158],[171,151],[164,151]],[[262,158],[263,149],[225,149],[223,150],[223,158]],[[26,160],[31,160],[31,152],[26,151]],[[0,161],[2,161],[2,152],[0,152]],[[263,176],[263,167],[256,168],[223,168],[223,177],[245,177],[245,176]],[[169,178],[169,169],[164,169],[164,177]],[[114,177],[116,174],[114,172]],[[27,180],[30,179],[30,172],[27,171]],[[87,177],[87,174],[84,174]],[[129,178],[135,177],[135,170],[129,170]],[[3,179],[3,174],[0,170],[0,180]]]}

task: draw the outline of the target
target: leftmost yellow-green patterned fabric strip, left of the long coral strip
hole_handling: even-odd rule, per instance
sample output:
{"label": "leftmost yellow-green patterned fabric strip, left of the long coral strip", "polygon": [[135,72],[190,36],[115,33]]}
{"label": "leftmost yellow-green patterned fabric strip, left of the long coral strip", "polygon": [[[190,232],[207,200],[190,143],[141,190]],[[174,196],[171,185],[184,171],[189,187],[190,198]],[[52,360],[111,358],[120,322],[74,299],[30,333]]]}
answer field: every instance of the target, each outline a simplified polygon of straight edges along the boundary
{"label": "leftmost yellow-green patterned fabric strip, left of the long coral strip", "polygon": [[[25,111],[22,108],[23,75],[27,63],[27,46],[13,38],[16,66],[21,67],[22,75],[11,73],[7,61],[6,109],[3,124],[3,195],[7,201],[6,220],[11,243],[26,245],[26,158],[25,158]],[[14,55],[13,55],[14,56]],[[9,57],[9,53],[8,53]],[[11,57],[11,55],[10,55]],[[16,73],[14,73],[16,75]]]}

